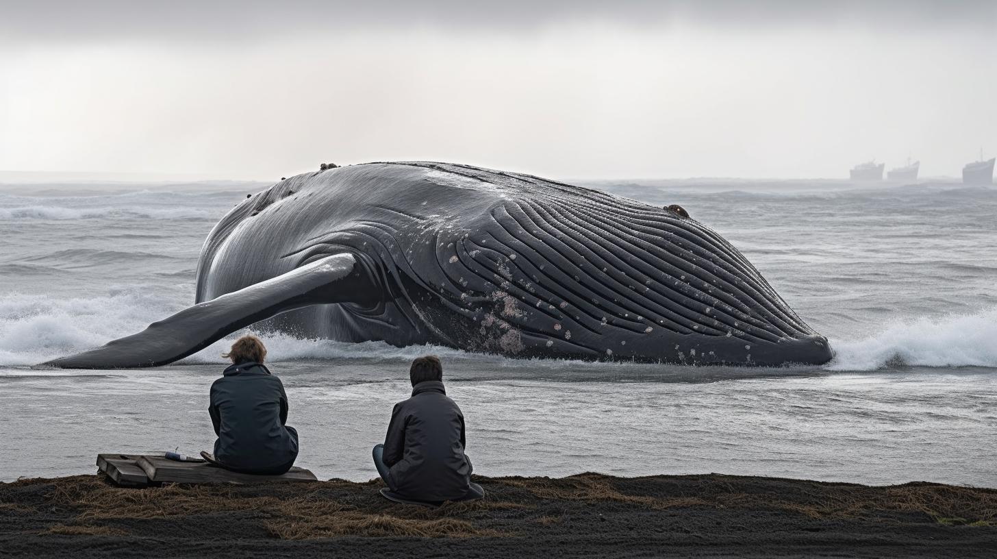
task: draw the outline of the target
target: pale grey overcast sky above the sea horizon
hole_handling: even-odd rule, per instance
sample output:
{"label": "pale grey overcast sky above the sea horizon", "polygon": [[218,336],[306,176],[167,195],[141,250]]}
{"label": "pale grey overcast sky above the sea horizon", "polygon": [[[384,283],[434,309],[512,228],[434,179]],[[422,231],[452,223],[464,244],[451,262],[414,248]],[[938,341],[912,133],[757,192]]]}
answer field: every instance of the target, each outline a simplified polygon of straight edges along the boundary
{"label": "pale grey overcast sky above the sea horizon", "polygon": [[[359,2],[357,4],[360,4]],[[0,0],[0,171],[846,177],[997,154],[997,1]]]}

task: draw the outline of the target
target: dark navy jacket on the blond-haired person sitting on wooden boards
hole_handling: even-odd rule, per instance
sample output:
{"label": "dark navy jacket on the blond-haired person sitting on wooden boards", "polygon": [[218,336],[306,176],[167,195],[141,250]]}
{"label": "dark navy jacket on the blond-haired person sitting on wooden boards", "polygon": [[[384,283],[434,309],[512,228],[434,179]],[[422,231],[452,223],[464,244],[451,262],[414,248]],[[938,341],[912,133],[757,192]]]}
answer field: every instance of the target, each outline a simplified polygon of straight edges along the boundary
{"label": "dark navy jacket on the blond-haired person sitting on wooden boards", "polygon": [[231,365],[211,384],[214,457],[231,469],[265,471],[294,462],[298,433],[285,427],[287,394],[260,363]]}

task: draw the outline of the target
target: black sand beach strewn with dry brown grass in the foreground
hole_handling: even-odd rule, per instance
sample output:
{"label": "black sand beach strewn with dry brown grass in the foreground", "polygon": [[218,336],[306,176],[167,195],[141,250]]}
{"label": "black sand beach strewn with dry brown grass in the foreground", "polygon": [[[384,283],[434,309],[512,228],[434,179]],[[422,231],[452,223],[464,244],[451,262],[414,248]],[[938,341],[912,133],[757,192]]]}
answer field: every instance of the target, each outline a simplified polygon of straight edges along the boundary
{"label": "black sand beach strewn with dry brown grass in the foreground", "polygon": [[997,489],[727,475],[476,476],[487,497],[391,503],[380,481],[0,484],[0,555],[994,557]]}

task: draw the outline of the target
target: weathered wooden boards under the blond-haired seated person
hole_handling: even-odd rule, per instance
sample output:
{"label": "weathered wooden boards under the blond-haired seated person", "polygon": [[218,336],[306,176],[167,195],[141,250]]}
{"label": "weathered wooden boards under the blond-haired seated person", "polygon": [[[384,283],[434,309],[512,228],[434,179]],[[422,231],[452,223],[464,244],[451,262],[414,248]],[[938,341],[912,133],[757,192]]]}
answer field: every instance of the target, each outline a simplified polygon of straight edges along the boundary
{"label": "weathered wooden boards under the blond-haired seated person", "polygon": [[99,454],[97,465],[115,483],[144,487],[161,483],[268,483],[273,481],[318,481],[311,471],[297,466],[282,475],[238,473],[206,462],[177,462],[151,454]]}

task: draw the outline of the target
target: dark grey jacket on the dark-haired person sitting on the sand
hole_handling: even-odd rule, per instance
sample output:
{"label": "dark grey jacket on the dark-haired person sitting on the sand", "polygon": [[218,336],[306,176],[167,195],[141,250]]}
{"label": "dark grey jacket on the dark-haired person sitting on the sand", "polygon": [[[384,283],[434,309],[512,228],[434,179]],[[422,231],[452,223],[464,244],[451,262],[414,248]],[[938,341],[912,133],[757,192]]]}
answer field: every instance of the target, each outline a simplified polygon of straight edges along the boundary
{"label": "dark grey jacket on the dark-haired person sitting on the sand", "polygon": [[395,404],[384,441],[392,491],[421,501],[458,499],[468,493],[471,460],[464,453],[464,414],[443,382],[416,384]]}

